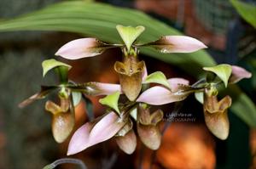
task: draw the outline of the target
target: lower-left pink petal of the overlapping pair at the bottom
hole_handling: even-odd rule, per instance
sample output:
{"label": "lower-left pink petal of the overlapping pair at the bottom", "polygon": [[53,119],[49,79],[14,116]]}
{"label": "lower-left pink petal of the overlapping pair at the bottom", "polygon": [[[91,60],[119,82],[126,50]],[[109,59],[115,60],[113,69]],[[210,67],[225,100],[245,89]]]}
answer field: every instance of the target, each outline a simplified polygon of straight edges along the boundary
{"label": "lower-left pink petal of the overlapping pair at the bottom", "polygon": [[80,151],[89,147],[89,135],[92,127],[93,125],[90,122],[87,122],[82,127],[79,127],[79,129],[73,134],[73,137],[68,144],[67,155],[79,153]]}

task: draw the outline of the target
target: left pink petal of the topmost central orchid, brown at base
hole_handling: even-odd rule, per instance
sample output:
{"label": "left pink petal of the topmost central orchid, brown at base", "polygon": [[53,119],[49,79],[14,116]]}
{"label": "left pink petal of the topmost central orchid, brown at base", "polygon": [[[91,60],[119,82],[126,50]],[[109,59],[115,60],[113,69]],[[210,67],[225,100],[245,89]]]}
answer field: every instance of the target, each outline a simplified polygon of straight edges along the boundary
{"label": "left pink petal of the topmost central orchid, brown at base", "polygon": [[55,55],[65,59],[81,59],[102,54],[106,48],[96,38],[81,38],[67,42]]}

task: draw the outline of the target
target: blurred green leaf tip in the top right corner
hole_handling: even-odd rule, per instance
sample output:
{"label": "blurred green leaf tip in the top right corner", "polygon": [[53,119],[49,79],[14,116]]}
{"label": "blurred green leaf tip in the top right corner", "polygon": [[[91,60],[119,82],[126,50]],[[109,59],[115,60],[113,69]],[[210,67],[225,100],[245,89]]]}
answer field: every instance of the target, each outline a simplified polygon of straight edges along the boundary
{"label": "blurred green leaf tip in the top right corner", "polygon": [[243,3],[237,0],[230,0],[230,3],[236,8],[236,11],[241,15],[241,18],[256,28],[256,5]]}

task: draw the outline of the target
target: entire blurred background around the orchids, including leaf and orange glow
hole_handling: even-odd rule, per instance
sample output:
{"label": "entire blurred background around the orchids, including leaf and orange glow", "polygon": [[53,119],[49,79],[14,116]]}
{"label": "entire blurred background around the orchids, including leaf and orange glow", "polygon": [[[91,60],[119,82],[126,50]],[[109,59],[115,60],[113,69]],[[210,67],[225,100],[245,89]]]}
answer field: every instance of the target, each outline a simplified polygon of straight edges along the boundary
{"label": "entire blurred background around the orchids, including leaf and orange glow", "polygon": [[[10,19],[58,2],[60,1],[1,0],[0,18],[4,20]],[[52,74],[47,76],[46,79],[42,78],[41,62],[44,59],[52,58],[57,48],[61,47],[65,42],[81,37],[80,34],[99,37],[108,42],[117,42],[119,37],[114,30],[114,26],[117,23],[141,25],[140,22],[143,19],[147,31],[141,38],[141,41],[148,42],[163,34],[178,34],[178,31],[169,27],[171,25],[177,30],[205,42],[209,46],[207,52],[212,55],[217,63],[242,65],[247,70],[252,71],[253,75],[256,72],[255,29],[238,17],[235,8],[228,1],[105,0],[104,2],[112,3],[116,6],[143,10],[154,18],[166,22],[166,25],[156,20],[151,20],[148,16],[136,11],[124,8],[115,8],[115,11],[113,11],[112,7],[104,6],[101,3],[95,6],[91,4],[91,8],[84,8],[84,6],[79,5],[74,8],[69,3],[63,3],[59,8],[56,7],[58,11],[56,14],[53,12],[55,8],[49,8],[43,12],[38,12],[38,16],[35,15],[37,13],[34,13],[30,16],[28,15],[25,19],[7,20],[6,22],[3,20],[3,22],[0,22],[0,31],[47,30],[16,31],[0,34],[1,169],[41,168],[51,161],[65,156],[67,143],[61,144],[61,146],[54,143],[50,132],[50,115],[43,109],[44,101],[32,104],[24,110],[18,109],[17,104],[22,99],[32,95],[32,93],[36,93],[39,90],[40,84],[55,82],[55,76]],[[233,0],[234,2],[236,1]],[[94,7],[101,8],[102,10],[94,12]],[[79,14],[81,10],[87,12],[84,12],[84,15],[83,13]],[[114,16],[109,20],[108,10],[110,16],[119,13],[119,17]],[[78,14],[76,14],[76,11],[78,11]],[[122,14],[124,11],[137,17],[130,20],[129,15],[126,13]],[[49,16],[39,15],[47,12],[49,14],[53,13],[50,17],[55,20],[48,21],[50,19],[48,18]],[[70,18],[67,17],[68,15],[70,15]],[[61,18],[64,19],[65,17],[68,20],[61,20]],[[79,20],[79,17],[86,20],[83,22],[83,20]],[[98,17],[97,20],[94,20],[95,17]],[[138,18],[140,20],[137,20]],[[159,29],[155,28],[155,25],[159,25]],[[99,31],[101,29],[102,31]],[[55,31],[69,31],[79,34]],[[149,72],[161,70],[169,77],[183,76],[191,82],[195,82],[195,76],[199,77],[201,75],[201,66],[215,64],[212,57],[203,51],[195,54],[172,54],[168,56],[156,54],[148,49],[142,52],[142,59],[146,60]],[[117,82],[118,78],[114,74],[112,66],[114,60],[120,59],[119,54],[119,51],[113,49],[103,54],[102,57],[68,61],[69,64],[73,65],[70,76],[75,82]],[[147,57],[148,55],[156,59],[150,59]],[[92,67],[93,70],[91,69]],[[255,76],[251,80],[240,82],[239,86],[255,103]],[[230,88],[230,90],[230,93],[240,93],[237,87]],[[255,115],[252,114],[255,111],[253,110],[255,109],[255,104],[244,99],[245,95],[242,96],[243,102],[236,104],[233,110],[238,111],[238,113],[235,112],[236,115],[239,115],[248,124],[255,127]],[[236,98],[236,94],[234,94],[234,97]],[[247,106],[247,103],[250,106]],[[166,112],[171,112],[172,109],[172,105],[166,106]],[[119,153],[118,162],[115,162],[114,167],[131,168],[137,166],[138,163],[142,164],[144,168],[149,168],[147,165],[150,163],[151,157],[155,156],[155,168],[194,169],[195,167],[218,167],[240,169],[248,168],[249,166],[253,168],[255,159],[253,163],[252,157],[256,152],[256,138],[253,129],[250,129],[236,115],[230,113],[230,138],[227,141],[219,141],[217,138],[213,138],[203,125],[201,104],[193,101],[193,97],[186,101],[186,108],[183,108],[183,112],[190,113],[191,110],[195,111],[196,122],[192,124],[174,122],[167,130],[163,139],[163,145],[156,155],[152,152],[148,153],[148,150],[144,150],[146,153],[143,154],[143,162],[140,162],[137,160],[140,159],[139,156],[142,154],[140,149],[135,155],[130,157]],[[102,107],[96,104],[95,111],[97,115],[101,114]],[[82,124],[85,120],[86,117],[83,116],[80,123]],[[189,133],[192,134],[190,135]],[[184,140],[188,141],[185,142]],[[193,152],[192,149],[184,147],[184,144],[190,147],[194,147],[195,144],[201,146],[196,147],[198,149],[195,149],[195,152]],[[174,145],[176,149],[173,148]],[[106,147],[105,144],[103,144],[104,146]],[[115,149],[114,144],[111,148]],[[182,149],[182,152],[178,149]],[[109,151],[113,150],[108,149],[106,152],[106,149],[102,149],[102,144],[100,144],[96,148],[77,155],[77,157],[83,159],[86,164],[89,164],[90,168],[99,168],[99,166],[106,165],[106,159],[108,163],[111,161],[111,158],[108,159],[106,157],[111,157]],[[198,156],[198,159],[193,158],[195,155]],[[203,162],[202,159],[208,159],[208,161]],[[130,163],[129,165],[122,166],[122,161],[130,161]],[[180,161],[188,161],[188,164],[179,164]],[[64,166],[63,168],[70,168],[70,166]]]}

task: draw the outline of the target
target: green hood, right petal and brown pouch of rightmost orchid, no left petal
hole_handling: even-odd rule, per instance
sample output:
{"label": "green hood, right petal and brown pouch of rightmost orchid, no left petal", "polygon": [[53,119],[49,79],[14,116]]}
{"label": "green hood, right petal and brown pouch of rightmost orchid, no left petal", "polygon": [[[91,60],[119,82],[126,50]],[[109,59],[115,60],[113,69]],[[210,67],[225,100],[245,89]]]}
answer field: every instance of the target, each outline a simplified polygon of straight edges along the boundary
{"label": "green hood, right petal and brown pouch of rightmost orchid, no left petal", "polygon": [[[252,74],[247,70],[236,65],[216,65],[205,67],[208,77],[205,84],[205,90],[195,93],[195,98],[203,104],[204,116],[208,129],[217,138],[226,139],[230,132],[230,122],[227,115],[227,109],[231,105],[230,96],[225,96],[218,102],[218,86],[224,84],[233,84],[241,81],[243,78],[250,78]],[[210,76],[210,77],[209,77]]]}

